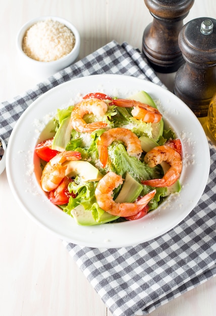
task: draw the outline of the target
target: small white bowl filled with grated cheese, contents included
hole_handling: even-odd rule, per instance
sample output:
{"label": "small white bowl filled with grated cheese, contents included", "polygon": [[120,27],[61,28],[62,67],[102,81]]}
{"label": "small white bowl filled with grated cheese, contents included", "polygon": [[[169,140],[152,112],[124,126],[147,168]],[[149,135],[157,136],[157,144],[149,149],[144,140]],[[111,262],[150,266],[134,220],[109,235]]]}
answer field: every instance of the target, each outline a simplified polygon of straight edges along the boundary
{"label": "small white bowl filled with grated cheese, contents included", "polygon": [[63,18],[39,17],[21,27],[17,35],[17,49],[21,67],[42,79],[76,61],[80,35],[76,27]]}

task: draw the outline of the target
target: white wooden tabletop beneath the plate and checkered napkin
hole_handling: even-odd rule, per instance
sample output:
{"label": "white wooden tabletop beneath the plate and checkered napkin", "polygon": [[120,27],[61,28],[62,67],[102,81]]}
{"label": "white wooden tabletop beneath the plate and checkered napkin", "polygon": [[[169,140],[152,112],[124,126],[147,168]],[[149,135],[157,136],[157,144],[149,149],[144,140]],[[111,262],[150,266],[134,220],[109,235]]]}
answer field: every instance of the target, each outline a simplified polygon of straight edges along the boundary
{"label": "white wooden tabletop beneath the plate and checkered napkin", "polygon": [[[143,0],[0,0],[0,100],[32,88],[38,79],[18,65],[16,35],[28,20],[42,15],[64,17],[81,35],[79,58],[115,39],[141,49],[152,21]],[[195,0],[184,23],[216,18],[212,0]],[[159,75],[172,89],[174,74]],[[6,171],[0,175],[0,315],[111,316],[79,271],[62,241],[32,222],[12,196]],[[216,279],[211,279],[151,316],[215,316]]]}

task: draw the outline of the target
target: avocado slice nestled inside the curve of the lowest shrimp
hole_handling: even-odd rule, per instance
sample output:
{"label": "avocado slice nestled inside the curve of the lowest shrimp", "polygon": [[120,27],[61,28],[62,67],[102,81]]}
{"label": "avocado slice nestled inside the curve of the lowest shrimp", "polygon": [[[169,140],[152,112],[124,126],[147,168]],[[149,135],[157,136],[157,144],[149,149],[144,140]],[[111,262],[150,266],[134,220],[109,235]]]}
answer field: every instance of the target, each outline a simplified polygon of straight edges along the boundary
{"label": "avocado slice nestled inside the curve of the lowest shrimp", "polygon": [[115,199],[116,203],[123,203],[123,202],[134,202],[137,197],[142,192],[142,185],[137,182],[131,175],[127,172],[125,176],[124,184],[119,192],[119,195]]}

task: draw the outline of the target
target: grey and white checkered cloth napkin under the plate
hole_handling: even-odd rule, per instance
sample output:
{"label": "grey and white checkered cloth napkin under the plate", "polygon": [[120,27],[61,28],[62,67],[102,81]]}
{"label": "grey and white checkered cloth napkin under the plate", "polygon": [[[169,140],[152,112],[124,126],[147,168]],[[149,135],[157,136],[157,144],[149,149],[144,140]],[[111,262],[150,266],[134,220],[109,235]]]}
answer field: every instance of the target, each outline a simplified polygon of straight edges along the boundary
{"label": "grey and white checkered cloth napkin under the plate", "polygon": [[[137,49],[112,41],[34,89],[0,103],[0,135],[8,141],[25,109],[39,95],[68,80],[123,74],[163,84]],[[114,316],[148,314],[216,275],[216,152],[209,143],[210,173],[190,215],[174,229],[135,247],[96,249],[63,241],[70,255]]]}

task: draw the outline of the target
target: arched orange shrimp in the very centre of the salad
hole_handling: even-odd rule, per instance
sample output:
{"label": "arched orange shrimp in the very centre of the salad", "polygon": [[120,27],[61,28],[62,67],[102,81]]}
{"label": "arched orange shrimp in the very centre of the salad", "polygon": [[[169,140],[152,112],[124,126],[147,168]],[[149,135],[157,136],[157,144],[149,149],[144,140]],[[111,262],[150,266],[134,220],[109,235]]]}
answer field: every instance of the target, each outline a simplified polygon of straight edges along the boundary
{"label": "arched orange shrimp in the very centre of the salad", "polygon": [[99,160],[103,167],[106,166],[108,159],[108,146],[115,140],[123,141],[126,144],[130,156],[140,158],[142,147],[139,138],[129,129],[116,127],[105,131],[97,141]]}

